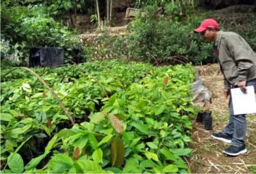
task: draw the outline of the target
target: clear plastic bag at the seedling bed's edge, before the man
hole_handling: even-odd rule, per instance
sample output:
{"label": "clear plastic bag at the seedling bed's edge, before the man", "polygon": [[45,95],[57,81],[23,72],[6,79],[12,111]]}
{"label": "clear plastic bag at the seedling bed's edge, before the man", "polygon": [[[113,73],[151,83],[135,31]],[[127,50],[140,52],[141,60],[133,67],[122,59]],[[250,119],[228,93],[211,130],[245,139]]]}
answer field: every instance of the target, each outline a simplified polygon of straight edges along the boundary
{"label": "clear plastic bag at the seedling bed's edge, before the man", "polygon": [[192,92],[193,92],[193,99],[192,103],[193,105],[198,106],[205,106],[210,105],[211,91],[206,88],[204,85],[202,85],[202,80],[200,79],[198,73],[195,75],[196,81],[191,84],[192,86]]}

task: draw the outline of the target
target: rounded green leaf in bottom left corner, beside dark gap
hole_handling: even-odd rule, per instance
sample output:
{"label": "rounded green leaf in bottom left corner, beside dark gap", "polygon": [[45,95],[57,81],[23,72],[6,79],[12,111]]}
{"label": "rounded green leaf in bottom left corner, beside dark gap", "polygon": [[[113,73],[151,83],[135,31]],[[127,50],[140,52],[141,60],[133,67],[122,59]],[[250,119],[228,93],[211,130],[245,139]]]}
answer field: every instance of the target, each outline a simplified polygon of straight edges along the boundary
{"label": "rounded green leaf in bottom left corner, beside dark gap", "polygon": [[21,155],[19,155],[18,153],[11,153],[8,156],[7,163],[9,168],[14,173],[22,173],[24,170],[23,160],[21,158]]}

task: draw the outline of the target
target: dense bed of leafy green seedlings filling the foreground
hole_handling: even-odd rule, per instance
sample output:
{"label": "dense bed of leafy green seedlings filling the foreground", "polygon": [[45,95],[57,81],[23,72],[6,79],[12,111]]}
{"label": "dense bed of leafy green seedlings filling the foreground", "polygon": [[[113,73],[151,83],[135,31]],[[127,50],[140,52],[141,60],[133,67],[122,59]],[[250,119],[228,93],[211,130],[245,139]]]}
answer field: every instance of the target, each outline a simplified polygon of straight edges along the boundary
{"label": "dense bed of leafy green seedlings filling the foreground", "polygon": [[[28,72],[2,76],[2,172],[187,172],[182,156],[191,152],[189,118],[195,112],[189,97],[191,65],[104,61],[33,70],[77,123],[67,123],[52,94]],[[31,153],[34,158],[26,159]],[[51,159],[42,167],[47,156]]]}

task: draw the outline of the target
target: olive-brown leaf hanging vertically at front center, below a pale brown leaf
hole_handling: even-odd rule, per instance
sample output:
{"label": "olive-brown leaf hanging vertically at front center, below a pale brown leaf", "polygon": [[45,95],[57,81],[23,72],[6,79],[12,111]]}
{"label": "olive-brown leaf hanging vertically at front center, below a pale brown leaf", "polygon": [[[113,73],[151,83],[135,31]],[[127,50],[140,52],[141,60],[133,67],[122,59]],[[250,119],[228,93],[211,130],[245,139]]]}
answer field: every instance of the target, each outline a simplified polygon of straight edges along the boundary
{"label": "olive-brown leaf hanging vertically at front center, below a pale brown leaf", "polygon": [[120,168],[124,161],[125,149],[124,143],[120,138],[112,139],[111,143],[111,163],[112,166]]}

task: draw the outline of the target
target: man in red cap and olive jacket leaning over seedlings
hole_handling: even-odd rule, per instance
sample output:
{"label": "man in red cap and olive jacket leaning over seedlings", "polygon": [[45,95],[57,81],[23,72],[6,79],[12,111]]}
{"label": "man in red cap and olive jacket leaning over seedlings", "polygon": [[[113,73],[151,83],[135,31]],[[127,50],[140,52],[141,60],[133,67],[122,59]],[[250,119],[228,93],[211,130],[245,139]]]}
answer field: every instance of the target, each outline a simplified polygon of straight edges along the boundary
{"label": "man in red cap and olive jacket leaning over seedlings", "polygon": [[[194,32],[201,33],[205,41],[214,42],[217,59],[224,75],[224,92],[230,96],[231,88],[240,88],[246,93],[246,86],[254,86],[256,92],[256,54],[240,35],[219,29],[214,19],[206,19]],[[220,133],[213,133],[212,138],[231,143],[224,153],[237,156],[246,153],[245,136],[247,124],[245,115],[234,115],[230,96],[230,121]]]}

